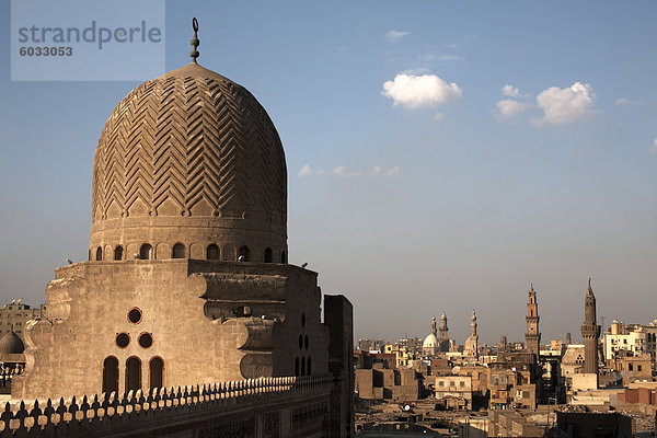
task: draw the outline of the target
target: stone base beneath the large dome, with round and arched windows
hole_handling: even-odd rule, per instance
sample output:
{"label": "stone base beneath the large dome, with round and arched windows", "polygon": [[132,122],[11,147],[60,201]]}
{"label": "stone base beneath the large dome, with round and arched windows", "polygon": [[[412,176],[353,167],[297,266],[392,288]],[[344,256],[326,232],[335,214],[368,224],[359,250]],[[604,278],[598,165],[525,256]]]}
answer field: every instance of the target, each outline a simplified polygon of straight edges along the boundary
{"label": "stone base beneath the large dome, with round and arched windows", "polygon": [[[15,399],[328,372],[316,274],[292,265],[85,262],[56,269],[46,296],[48,320],[27,327]],[[117,364],[112,388],[103,387],[107,359]],[[161,384],[151,379],[153,359],[163,364]],[[139,364],[134,385],[130,360]]]}

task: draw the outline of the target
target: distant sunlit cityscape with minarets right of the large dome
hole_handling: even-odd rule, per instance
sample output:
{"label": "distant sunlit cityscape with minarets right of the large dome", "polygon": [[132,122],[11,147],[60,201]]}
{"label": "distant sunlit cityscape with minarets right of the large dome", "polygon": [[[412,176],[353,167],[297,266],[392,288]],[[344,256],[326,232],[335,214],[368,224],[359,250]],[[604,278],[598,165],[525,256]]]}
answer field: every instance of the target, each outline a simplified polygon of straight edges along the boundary
{"label": "distant sunlit cityscape with minarets right of the large dome", "polygon": [[[622,391],[621,382],[652,383],[649,388],[657,397],[657,382],[652,382],[654,364],[648,354],[655,351],[657,321],[643,326],[614,321],[604,342],[606,351],[613,360],[608,360],[607,367],[601,368],[600,326],[597,325],[597,302],[590,280],[585,297],[583,344],[573,344],[568,333],[565,342],[552,339],[541,349],[538,293],[533,285],[527,297],[526,343],[508,342],[502,335],[494,347],[479,345],[476,313],[473,311],[471,333],[464,346],[446,351],[443,342],[451,341],[443,313],[439,324],[435,316],[431,319],[430,332],[419,350],[412,350],[410,338],[385,346],[385,351],[390,353],[385,362],[394,367],[395,372],[360,372],[358,384],[362,388],[362,396],[387,394],[385,399],[395,399],[393,393],[412,396],[413,392],[406,391],[415,387],[415,379],[407,374],[404,380],[402,371],[414,369],[424,382],[426,396],[434,396],[436,405],[443,410],[473,410],[484,404],[491,410],[534,410],[539,404],[564,402],[609,405],[613,394]],[[377,367],[383,365],[372,366]],[[408,388],[402,389],[404,385]]]}

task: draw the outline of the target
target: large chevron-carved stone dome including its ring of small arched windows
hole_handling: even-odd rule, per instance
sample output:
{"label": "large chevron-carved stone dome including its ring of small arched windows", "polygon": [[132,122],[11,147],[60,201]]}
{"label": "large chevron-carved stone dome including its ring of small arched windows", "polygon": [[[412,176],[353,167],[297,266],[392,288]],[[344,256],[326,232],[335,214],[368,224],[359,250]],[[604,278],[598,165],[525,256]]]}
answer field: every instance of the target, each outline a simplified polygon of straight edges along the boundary
{"label": "large chevron-carved stone dome including its ring of small arched windows", "polygon": [[192,62],[116,105],[95,152],[90,260],[286,253],[285,152],[246,89]]}

